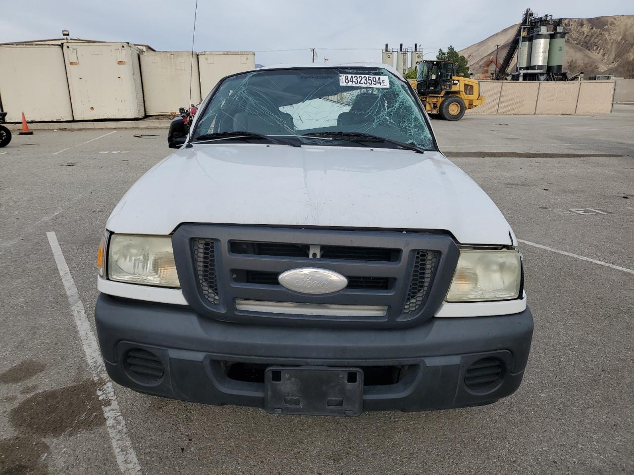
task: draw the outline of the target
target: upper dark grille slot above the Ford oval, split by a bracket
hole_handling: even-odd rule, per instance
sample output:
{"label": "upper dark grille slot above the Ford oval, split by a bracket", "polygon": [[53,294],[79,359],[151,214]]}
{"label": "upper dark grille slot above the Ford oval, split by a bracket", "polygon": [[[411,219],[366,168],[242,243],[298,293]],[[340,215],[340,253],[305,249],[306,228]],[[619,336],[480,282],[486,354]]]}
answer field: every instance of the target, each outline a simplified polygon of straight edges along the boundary
{"label": "upper dark grille slot above the Ford oval, split by a bracket", "polygon": [[[308,244],[258,243],[256,241],[231,241],[231,252],[256,256],[310,257]],[[366,248],[356,246],[321,246],[322,259],[368,260],[396,262],[401,251],[398,249]]]}

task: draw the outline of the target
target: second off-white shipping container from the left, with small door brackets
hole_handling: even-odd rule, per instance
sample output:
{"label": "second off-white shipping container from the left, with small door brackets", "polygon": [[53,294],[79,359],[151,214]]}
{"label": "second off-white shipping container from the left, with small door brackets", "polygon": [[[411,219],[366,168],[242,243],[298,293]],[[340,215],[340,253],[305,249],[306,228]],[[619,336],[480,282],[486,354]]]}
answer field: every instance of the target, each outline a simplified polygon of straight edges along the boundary
{"label": "second off-white shipping container from the left, with small door brackets", "polygon": [[75,120],[145,116],[139,50],[129,43],[62,44]]}

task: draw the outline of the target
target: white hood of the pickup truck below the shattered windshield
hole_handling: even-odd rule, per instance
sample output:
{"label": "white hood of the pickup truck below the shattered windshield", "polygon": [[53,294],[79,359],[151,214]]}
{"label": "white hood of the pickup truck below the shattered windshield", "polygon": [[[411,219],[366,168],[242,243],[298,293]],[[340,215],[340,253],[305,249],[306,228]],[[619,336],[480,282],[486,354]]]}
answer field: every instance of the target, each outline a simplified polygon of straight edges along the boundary
{"label": "white hood of the pickup truck below the shattered windshield", "polygon": [[170,234],[184,222],[439,229],[462,244],[515,244],[487,194],[434,151],[196,144],[143,175],[107,228]]}

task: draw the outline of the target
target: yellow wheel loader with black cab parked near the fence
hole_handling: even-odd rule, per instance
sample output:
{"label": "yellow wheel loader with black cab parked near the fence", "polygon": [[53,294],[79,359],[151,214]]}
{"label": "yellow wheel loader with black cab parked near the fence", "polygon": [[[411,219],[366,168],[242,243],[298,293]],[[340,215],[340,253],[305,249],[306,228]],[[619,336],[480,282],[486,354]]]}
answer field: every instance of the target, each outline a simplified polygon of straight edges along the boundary
{"label": "yellow wheel loader with black cab parked near the fence", "polygon": [[480,83],[456,76],[456,65],[451,61],[425,60],[416,67],[416,79],[409,81],[427,113],[438,114],[445,120],[460,120],[465,110],[484,103]]}

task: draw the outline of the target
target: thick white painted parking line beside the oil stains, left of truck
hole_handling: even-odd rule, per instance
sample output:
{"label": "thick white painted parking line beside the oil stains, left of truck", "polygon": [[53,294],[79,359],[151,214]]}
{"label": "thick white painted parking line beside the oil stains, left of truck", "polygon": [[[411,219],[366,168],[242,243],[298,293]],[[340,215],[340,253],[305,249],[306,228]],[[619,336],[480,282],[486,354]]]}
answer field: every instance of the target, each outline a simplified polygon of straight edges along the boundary
{"label": "thick white painted parking line beside the oil stains, left of truck", "polygon": [[106,420],[110,443],[112,443],[112,450],[115,453],[119,471],[124,475],[137,474],[141,472],[141,467],[136,458],[130,437],[127,434],[126,421],[124,421],[119,410],[112,383],[103,365],[103,360],[101,360],[97,339],[86,317],[86,309],[79,298],[77,286],[75,286],[75,281],[70,275],[64,255],[61,253],[55,232],[47,232],[46,237],[51,245],[57,269],[60,271],[61,282],[63,282],[66,289],[68,305],[70,305],[70,311],[75,319],[75,326],[77,326],[84,355],[86,355],[86,360],[88,361],[88,367],[94,382],[97,384],[97,395],[101,400],[103,416]]}

